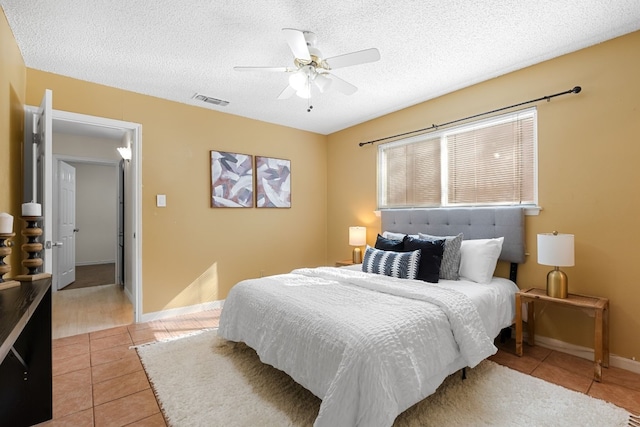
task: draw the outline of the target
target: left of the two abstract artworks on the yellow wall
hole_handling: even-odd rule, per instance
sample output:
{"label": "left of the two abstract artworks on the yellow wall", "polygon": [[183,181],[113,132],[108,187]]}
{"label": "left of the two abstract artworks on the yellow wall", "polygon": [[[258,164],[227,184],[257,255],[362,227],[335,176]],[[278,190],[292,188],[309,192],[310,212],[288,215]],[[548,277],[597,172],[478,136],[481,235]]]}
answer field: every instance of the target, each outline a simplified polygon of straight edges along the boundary
{"label": "left of the two abstract artworks on the yellow wall", "polygon": [[211,207],[253,207],[253,156],[211,151]]}

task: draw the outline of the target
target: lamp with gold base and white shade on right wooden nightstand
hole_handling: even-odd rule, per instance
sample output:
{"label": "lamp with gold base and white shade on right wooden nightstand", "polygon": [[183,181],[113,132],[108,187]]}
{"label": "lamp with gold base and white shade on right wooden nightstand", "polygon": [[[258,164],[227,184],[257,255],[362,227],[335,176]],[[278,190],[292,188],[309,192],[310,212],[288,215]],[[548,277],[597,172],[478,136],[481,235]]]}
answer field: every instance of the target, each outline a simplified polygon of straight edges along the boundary
{"label": "lamp with gold base and white shade on right wooden nightstand", "polygon": [[547,295],[566,298],[569,294],[569,279],[560,267],[574,265],[573,234],[538,234],[538,264],[555,268],[547,274]]}

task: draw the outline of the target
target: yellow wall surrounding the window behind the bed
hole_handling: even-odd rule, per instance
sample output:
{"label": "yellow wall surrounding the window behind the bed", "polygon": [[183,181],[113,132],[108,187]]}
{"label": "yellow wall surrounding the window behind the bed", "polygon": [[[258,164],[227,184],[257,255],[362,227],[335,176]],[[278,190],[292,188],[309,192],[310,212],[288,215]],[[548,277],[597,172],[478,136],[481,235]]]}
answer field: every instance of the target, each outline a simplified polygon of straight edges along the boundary
{"label": "yellow wall surrounding the window behind the bed", "polygon": [[[539,216],[526,218],[521,288],[544,287],[536,234],[575,234],[570,292],[608,297],[612,353],[640,357],[640,32],[492,79],[329,136],[328,257],[348,257],[347,227],[375,242],[377,146],[358,142],[420,129],[582,86],[538,105]],[[428,76],[425,76],[428,79]],[[505,266],[500,272],[506,274]],[[537,333],[591,346],[593,320],[548,307]]]}

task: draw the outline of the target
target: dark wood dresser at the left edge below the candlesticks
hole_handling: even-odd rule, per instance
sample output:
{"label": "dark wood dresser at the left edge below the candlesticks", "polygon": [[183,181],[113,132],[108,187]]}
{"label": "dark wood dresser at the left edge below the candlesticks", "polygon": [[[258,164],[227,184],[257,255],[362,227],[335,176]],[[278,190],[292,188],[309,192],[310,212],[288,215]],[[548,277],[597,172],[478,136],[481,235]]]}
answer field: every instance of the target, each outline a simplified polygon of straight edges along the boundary
{"label": "dark wood dresser at the left edge below the candlesticks", "polygon": [[0,424],[50,420],[51,278],[0,290],[0,360]]}

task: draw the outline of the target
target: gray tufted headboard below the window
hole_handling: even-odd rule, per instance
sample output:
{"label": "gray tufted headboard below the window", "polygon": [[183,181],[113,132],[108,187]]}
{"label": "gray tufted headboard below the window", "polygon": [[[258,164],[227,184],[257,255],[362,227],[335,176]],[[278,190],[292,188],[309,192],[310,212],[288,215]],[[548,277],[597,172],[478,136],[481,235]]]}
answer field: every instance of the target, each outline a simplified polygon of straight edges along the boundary
{"label": "gray tufted headboard below the window", "polygon": [[383,210],[384,231],[436,236],[463,233],[465,240],[504,237],[500,259],[512,264],[525,260],[524,209],[520,207]]}

